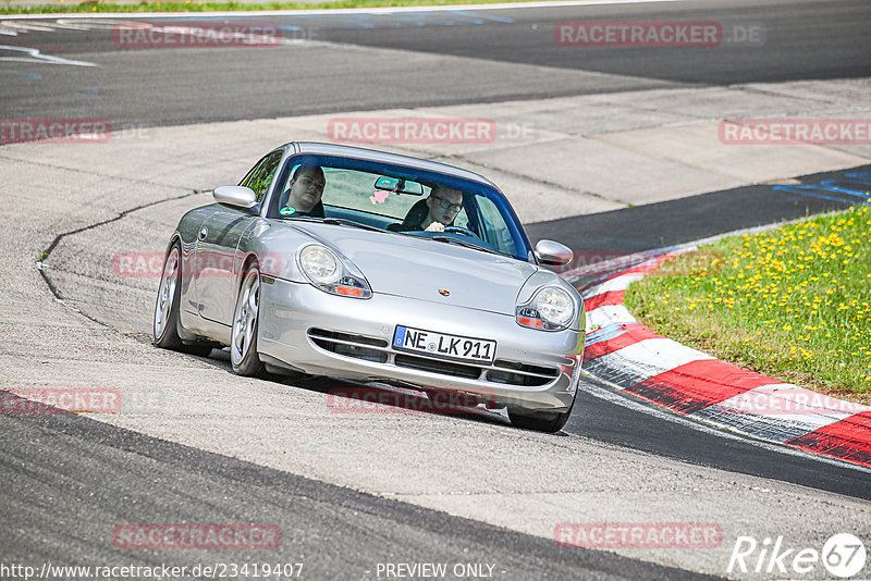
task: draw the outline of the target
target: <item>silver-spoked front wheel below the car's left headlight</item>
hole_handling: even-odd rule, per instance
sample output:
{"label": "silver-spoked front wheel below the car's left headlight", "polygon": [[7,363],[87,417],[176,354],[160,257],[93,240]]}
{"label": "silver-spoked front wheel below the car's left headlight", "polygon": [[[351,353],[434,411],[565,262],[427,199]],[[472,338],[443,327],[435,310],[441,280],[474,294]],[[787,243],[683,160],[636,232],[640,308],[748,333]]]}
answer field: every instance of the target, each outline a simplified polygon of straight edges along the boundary
{"label": "silver-spoked front wheel below the car's left headlight", "polygon": [[257,326],[260,319],[260,271],[253,263],[242,277],[233,310],[230,363],[238,375],[260,375],[263,363],[257,354]]}

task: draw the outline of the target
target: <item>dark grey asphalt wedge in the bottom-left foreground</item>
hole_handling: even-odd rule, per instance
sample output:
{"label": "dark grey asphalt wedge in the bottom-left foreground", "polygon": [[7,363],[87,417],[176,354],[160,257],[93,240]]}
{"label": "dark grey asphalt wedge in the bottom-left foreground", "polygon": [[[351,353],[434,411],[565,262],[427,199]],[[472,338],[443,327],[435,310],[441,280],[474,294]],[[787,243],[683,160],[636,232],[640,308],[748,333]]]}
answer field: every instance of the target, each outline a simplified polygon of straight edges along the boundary
{"label": "dark grey asphalt wedge in the bottom-left foreground", "polygon": [[[496,574],[510,571],[508,577],[518,579],[571,578],[581,571],[598,579],[704,578],[593,551],[561,551],[549,540],[95,423],[75,416],[3,422],[3,442],[14,449],[3,458],[3,489],[10,500],[4,527],[42,531],[7,537],[4,560],[28,555],[70,564],[84,556],[91,563],[112,563],[114,551],[101,547],[106,522],[139,518],[147,507],[155,522],[279,522],[282,548],[287,549],[270,555],[270,560],[303,563],[310,578],[360,576],[375,570],[377,563],[414,563],[422,556],[433,563],[457,556],[468,563],[498,563]],[[51,449],[39,445],[45,441],[51,442]],[[68,474],[58,471],[68,463],[75,466],[79,495],[70,494]],[[103,481],[106,471],[111,471],[110,483]],[[145,490],[143,474],[149,474],[151,482]],[[100,492],[84,493],[89,490]],[[45,515],[21,502],[37,495],[48,499],[59,491],[68,506],[77,506],[74,514]],[[136,491],[136,500],[124,506],[119,500],[130,491]],[[57,548],[47,547],[54,543]],[[220,560],[253,558],[240,551],[222,553]],[[172,563],[193,568],[211,560],[214,557],[204,551],[188,552]],[[155,552],[142,561],[156,566],[167,559]]]}

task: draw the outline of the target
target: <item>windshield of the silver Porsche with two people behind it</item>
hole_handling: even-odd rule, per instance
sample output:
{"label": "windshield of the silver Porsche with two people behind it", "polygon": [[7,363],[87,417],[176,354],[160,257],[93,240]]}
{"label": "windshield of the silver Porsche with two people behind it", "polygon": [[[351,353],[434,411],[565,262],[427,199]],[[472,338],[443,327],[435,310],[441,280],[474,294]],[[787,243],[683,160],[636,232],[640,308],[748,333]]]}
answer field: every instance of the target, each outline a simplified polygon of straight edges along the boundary
{"label": "windshield of the silver Porsche with two people behind it", "polygon": [[278,177],[267,217],[335,219],[437,242],[447,237],[524,261],[531,257],[514,211],[494,188],[381,162],[295,156]]}

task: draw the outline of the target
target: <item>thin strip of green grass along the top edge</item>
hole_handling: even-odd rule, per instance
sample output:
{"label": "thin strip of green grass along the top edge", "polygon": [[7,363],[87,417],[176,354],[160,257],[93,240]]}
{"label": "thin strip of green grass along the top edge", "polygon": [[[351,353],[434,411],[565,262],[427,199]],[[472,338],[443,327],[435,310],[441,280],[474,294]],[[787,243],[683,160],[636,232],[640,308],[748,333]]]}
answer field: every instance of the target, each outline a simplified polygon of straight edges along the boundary
{"label": "thin strip of green grass along the top edge", "polygon": [[252,10],[323,10],[339,8],[377,7],[431,7],[450,4],[492,4],[523,2],[526,0],[339,0],[334,2],[267,2],[243,4],[238,2],[142,2],[139,4],[109,4],[86,1],[77,4],[44,4],[39,7],[0,7],[0,14],[69,14],[73,12],[214,12]]}

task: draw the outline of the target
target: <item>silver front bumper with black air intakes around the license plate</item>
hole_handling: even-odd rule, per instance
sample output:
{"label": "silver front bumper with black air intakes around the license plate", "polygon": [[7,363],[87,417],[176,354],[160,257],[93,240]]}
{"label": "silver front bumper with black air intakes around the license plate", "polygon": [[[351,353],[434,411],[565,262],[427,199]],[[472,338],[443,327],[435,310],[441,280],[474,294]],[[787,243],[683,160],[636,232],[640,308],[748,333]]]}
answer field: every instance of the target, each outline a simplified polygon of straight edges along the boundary
{"label": "silver front bumper with black air intakes around the license plate", "polygon": [[[396,325],[495,341],[495,360],[457,364],[396,350]],[[527,329],[513,316],[378,293],[340,297],[281,279],[263,277],[260,285],[258,351],[266,361],[315,375],[461,392],[491,407],[560,412],[574,401],[582,348],[584,331]]]}

